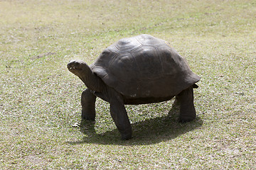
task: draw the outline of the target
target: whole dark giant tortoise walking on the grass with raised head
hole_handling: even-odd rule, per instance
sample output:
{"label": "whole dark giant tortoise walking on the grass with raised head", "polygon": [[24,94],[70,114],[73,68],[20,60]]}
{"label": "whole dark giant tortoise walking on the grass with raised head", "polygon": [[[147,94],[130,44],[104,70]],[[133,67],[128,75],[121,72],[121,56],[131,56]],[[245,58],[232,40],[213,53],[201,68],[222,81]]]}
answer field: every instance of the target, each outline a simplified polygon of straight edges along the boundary
{"label": "whole dark giant tortoise walking on the grass with raised head", "polygon": [[68,63],[70,72],[87,86],[82,92],[82,119],[95,120],[95,100],[110,103],[110,114],[123,140],[132,137],[125,104],[169,101],[180,103],[179,120],[196,118],[193,88],[200,77],[188,67],[169,42],[151,35],[123,38],[107,47],[88,66],[80,60]]}

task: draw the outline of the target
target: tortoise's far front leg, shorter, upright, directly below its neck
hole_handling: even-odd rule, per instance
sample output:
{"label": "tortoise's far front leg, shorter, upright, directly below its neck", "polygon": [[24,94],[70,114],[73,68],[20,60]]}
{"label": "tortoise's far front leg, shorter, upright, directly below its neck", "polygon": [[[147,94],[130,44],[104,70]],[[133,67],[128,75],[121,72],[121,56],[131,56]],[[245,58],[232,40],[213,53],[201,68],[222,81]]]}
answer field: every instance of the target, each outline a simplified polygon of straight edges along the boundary
{"label": "tortoise's far front leg, shorter, upright, directly below its neck", "polygon": [[90,89],[82,91],[81,105],[82,105],[82,119],[95,120],[95,101],[96,96],[92,94]]}

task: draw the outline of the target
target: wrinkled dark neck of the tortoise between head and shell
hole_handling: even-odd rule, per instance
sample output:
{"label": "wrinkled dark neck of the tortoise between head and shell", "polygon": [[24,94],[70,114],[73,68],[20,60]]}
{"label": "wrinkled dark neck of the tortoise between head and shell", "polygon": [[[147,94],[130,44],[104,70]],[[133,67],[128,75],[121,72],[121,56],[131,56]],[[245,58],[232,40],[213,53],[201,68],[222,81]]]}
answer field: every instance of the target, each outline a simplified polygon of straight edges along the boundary
{"label": "wrinkled dark neck of the tortoise between head and shell", "polygon": [[87,64],[85,64],[85,67],[82,68],[82,72],[78,77],[82,80],[82,82],[84,82],[88,89],[97,92],[102,91],[102,79],[97,77],[97,75],[92,72],[92,69],[90,69]]}

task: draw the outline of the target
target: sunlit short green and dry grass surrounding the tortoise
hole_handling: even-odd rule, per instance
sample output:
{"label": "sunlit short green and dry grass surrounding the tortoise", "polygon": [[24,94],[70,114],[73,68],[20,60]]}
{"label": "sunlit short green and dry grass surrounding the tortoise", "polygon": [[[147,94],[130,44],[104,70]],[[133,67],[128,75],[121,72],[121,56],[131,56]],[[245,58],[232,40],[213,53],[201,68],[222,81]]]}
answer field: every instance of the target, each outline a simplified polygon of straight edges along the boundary
{"label": "sunlit short green and dry grass surrounding the tortoise", "polygon": [[[127,106],[122,141],[98,99],[95,125],[73,128],[85,86],[68,61],[141,33],[202,77],[196,120],[173,101]],[[0,1],[0,57],[0,169],[256,169],[255,1]]]}

